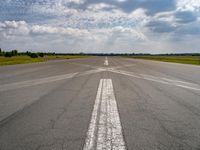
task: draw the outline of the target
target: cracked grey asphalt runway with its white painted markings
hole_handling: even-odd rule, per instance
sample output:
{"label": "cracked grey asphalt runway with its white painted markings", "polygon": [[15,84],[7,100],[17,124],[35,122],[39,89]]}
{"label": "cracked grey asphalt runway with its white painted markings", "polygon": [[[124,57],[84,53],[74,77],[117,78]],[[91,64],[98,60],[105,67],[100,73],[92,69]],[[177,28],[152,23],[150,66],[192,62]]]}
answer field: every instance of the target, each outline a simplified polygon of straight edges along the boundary
{"label": "cracked grey asphalt runway with its white painted markings", "polygon": [[0,67],[0,150],[82,149],[199,150],[200,67],[120,57]]}

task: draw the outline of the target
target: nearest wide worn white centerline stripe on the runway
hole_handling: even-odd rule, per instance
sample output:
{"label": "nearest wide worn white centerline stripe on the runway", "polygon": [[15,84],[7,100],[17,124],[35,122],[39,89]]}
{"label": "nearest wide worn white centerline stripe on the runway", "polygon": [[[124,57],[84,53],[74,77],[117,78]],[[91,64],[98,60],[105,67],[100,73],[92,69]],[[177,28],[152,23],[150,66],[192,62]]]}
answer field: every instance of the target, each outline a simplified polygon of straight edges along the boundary
{"label": "nearest wide worn white centerline stripe on the runway", "polygon": [[111,79],[101,79],[83,150],[125,150]]}

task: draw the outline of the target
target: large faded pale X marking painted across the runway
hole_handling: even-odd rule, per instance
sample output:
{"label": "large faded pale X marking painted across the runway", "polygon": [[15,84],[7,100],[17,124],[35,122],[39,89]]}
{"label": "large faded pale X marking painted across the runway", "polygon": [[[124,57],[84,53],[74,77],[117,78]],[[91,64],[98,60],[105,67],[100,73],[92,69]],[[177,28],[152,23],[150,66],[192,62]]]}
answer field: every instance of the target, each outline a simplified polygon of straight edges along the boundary
{"label": "large faded pale X marking painted across the runway", "polygon": [[[77,64],[77,65],[80,65],[80,64]],[[138,74],[138,73],[124,71],[124,70],[118,70],[119,68],[132,66],[130,64],[127,64],[124,66],[117,66],[117,67],[98,67],[98,66],[92,67],[90,65],[83,65],[83,66],[93,68],[93,69],[89,70],[89,71],[85,71],[85,72],[76,72],[76,73],[57,75],[57,76],[51,76],[51,77],[46,77],[46,78],[40,78],[40,79],[33,79],[33,80],[28,80],[28,81],[20,81],[20,82],[15,82],[15,83],[3,84],[3,85],[0,85],[0,92],[23,88],[23,87],[34,86],[34,85],[39,85],[39,84],[44,84],[44,83],[51,83],[51,82],[55,82],[55,81],[89,75],[89,74],[93,74],[93,73],[99,73],[99,72],[103,72],[103,71],[109,71],[112,73],[118,73],[121,75],[131,76],[131,77],[138,78],[138,79],[149,80],[149,81],[153,81],[153,82],[157,82],[157,83],[161,83],[161,84],[165,84],[165,85],[176,86],[176,87],[180,87],[180,88],[185,88],[185,89],[189,89],[189,90],[200,91],[199,84],[180,81],[180,80],[176,80],[176,79],[168,79],[168,78],[163,78],[163,77],[158,77],[158,76],[152,76],[152,75],[147,75],[147,74]]]}

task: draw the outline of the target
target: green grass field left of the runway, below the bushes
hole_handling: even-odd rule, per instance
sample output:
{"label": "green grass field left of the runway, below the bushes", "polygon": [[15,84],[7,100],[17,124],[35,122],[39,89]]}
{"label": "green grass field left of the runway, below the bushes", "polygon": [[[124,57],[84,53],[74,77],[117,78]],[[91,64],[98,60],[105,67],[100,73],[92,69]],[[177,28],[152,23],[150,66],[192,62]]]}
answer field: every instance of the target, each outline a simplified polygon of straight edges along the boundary
{"label": "green grass field left of the runway, below the bushes", "polygon": [[56,60],[56,59],[74,59],[74,58],[85,58],[85,57],[88,57],[88,56],[58,55],[58,56],[44,56],[44,57],[38,57],[38,58],[31,58],[29,56],[14,56],[14,57],[0,56],[0,66],[43,62],[43,61]]}

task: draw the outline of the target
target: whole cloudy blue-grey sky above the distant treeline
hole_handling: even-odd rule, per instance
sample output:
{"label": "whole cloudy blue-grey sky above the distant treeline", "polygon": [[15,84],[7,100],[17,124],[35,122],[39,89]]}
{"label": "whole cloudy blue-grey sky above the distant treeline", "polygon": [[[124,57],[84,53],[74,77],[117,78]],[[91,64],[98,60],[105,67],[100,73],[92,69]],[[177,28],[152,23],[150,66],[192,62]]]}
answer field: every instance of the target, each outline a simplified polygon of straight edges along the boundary
{"label": "whole cloudy blue-grey sky above the distant treeline", "polygon": [[0,0],[0,47],[200,53],[200,0]]}

